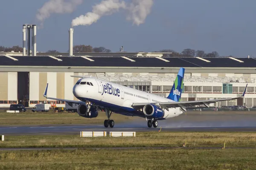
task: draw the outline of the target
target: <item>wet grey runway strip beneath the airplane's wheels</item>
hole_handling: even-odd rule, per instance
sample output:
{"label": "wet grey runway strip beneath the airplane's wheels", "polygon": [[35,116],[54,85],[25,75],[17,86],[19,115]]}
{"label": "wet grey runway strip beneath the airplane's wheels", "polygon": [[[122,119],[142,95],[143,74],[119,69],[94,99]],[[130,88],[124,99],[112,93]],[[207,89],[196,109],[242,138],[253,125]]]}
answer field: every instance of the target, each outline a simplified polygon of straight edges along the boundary
{"label": "wet grey runway strip beneath the airplane's wheels", "polygon": [[[70,125],[70,126],[4,126],[0,127],[1,135],[52,135],[52,134],[80,134],[80,131],[135,131],[149,132],[158,131],[160,127],[122,127],[116,125],[113,128],[105,128],[103,125]],[[162,131],[184,131],[184,132],[253,132],[255,127],[163,127]]]}

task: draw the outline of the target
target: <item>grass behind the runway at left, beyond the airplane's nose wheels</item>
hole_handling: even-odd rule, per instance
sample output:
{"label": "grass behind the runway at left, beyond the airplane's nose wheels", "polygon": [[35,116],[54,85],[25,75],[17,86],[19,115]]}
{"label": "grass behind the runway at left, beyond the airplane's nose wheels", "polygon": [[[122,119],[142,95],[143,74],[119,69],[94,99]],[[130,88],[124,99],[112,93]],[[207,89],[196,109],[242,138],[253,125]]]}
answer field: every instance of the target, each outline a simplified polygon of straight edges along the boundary
{"label": "grass behind the runway at left, beyond the airplane's nose wheels", "polygon": [[[72,124],[103,124],[107,116],[104,112],[99,112],[96,118],[88,119],[78,115],[78,113],[0,113],[0,125],[72,125]],[[134,117],[122,116],[113,113],[111,119],[115,122],[132,120]]]}

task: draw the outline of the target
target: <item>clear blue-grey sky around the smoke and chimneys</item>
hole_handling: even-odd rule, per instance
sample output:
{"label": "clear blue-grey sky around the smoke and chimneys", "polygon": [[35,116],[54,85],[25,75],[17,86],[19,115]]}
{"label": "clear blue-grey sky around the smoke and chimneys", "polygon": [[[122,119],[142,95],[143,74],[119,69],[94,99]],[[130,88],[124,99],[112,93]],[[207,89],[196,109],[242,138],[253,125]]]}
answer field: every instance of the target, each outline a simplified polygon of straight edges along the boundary
{"label": "clear blue-grey sky around the smoke and chimneys", "polygon": [[[37,50],[68,50],[71,21],[101,0],[84,0],[71,14],[52,14],[37,30]],[[129,1],[129,0],[125,0]],[[39,24],[37,10],[47,0],[3,0],[0,45],[22,46],[22,25]],[[74,45],[104,46],[111,51],[157,51],[185,48],[217,51],[220,55],[256,57],[255,0],[154,0],[145,23],[133,25],[124,11],[100,18],[90,26],[74,27]]]}

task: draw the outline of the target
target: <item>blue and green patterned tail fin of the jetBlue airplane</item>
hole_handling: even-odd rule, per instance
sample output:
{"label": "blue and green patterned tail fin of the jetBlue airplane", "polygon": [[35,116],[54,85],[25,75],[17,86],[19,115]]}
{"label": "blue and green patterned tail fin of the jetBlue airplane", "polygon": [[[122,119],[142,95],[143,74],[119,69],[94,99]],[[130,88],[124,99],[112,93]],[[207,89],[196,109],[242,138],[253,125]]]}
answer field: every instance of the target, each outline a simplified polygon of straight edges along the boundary
{"label": "blue and green patterned tail fin of the jetBlue airplane", "polygon": [[185,72],[185,68],[180,68],[178,75],[175,79],[175,82],[172,86],[172,90],[171,90],[169,96],[167,97],[167,99],[171,99],[175,102],[180,102],[181,93],[183,90],[184,72]]}

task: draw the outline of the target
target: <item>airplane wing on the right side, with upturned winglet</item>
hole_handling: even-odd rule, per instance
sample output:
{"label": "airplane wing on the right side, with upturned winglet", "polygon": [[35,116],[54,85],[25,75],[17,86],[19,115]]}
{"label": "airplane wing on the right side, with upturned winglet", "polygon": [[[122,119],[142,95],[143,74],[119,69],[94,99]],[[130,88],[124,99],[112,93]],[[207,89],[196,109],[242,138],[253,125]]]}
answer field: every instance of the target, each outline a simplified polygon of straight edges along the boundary
{"label": "airplane wing on the right side, with upturned winglet", "polygon": [[167,111],[169,111],[169,108],[181,108],[183,111],[186,111],[186,109],[194,109],[195,108],[194,106],[196,105],[205,106],[205,107],[198,107],[198,108],[209,108],[209,104],[211,103],[244,98],[246,88],[247,88],[247,85],[244,89],[243,95],[236,98],[222,98],[222,99],[185,101],[185,102],[134,103],[132,107],[139,110],[139,109],[142,109],[145,105],[153,104],[153,105],[159,105],[160,107],[166,109]]}

